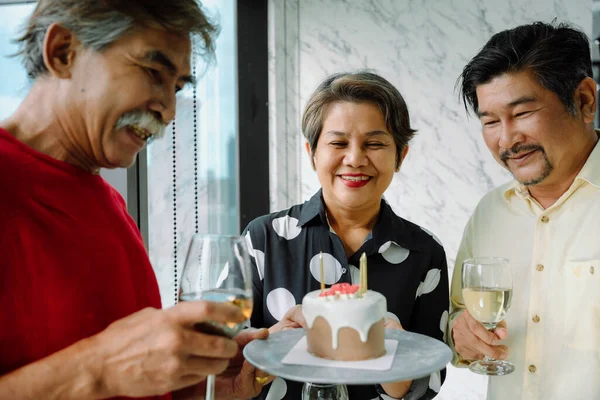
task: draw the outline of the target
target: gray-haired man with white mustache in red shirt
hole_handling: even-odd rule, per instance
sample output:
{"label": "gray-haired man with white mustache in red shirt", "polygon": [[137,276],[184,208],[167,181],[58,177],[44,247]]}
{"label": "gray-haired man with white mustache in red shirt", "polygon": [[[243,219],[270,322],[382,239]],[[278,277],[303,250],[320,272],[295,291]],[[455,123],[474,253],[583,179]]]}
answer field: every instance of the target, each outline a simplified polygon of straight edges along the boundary
{"label": "gray-haired man with white mustache in red shirt", "polygon": [[160,309],[140,233],[99,175],[163,134],[192,40],[211,54],[215,30],[195,0],[38,2],[19,39],[32,86],[0,122],[0,398],[168,399],[228,367],[219,398],[266,383],[240,354],[266,331],[193,329],[239,309]]}

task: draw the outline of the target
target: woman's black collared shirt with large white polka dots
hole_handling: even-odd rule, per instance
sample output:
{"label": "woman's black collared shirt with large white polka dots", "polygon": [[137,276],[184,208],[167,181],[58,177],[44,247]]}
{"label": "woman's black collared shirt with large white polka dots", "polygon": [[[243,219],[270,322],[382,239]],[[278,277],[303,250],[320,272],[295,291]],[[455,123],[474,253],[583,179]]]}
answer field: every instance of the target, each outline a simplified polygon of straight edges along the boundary
{"label": "woman's black collared shirt with large white polka dots", "polygon": [[[378,221],[361,248],[346,256],[340,238],[329,227],[321,191],[288,210],[259,217],[244,230],[252,255],[254,278],[253,327],[275,325],[304,295],[324,280],[358,283],[360,255],[367,255],[369,289],[387,299],[388,318],[407,331],[446,341],[449,293],[446,255],[427,231],[398,217],[385,200]],[[432,399],[445,370],[415,380],[405,400]],[[298,400],[302,383],[277,378],[260,399]],[[379,385],[348,386],[351,400],[392,399]]]}

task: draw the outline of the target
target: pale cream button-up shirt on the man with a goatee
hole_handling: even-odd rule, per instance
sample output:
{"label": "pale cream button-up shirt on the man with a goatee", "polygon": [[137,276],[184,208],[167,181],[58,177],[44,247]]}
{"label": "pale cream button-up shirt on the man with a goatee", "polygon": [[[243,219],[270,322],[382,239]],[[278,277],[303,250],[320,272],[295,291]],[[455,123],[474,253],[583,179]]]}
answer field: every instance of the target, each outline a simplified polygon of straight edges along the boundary
{"label": "pale cream button-up shirt on the man with a goatee", "polygon": [[[515,364],[490,378],[488,399],[600,399],[600,141],[548,209],[516,182],[480,201],[456,259],[450,329],[464,309],[462,262],[487,256],[512,264],[504,344]],[[457,354],[453,363],[466,364]]]}

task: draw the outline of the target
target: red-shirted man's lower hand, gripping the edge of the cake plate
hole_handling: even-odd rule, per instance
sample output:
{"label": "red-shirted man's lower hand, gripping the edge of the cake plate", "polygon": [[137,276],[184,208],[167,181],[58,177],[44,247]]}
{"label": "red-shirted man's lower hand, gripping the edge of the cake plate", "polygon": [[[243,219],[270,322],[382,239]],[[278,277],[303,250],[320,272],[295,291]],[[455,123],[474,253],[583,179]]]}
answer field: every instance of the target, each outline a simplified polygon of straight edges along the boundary
{"label": "red-shirted man's lower hand, gripping the edge of the cake plate", "polygon": [[[267,329],[246,329],[234,339],[239,345],[236,356],[229,363],[229,367],[215,380],[215,398],[219,400],[249,399],[256,397],[262,387],[275,379],[257,369],[244,360],[242,351],[246,344],[255,339],[266,339],[269,336]],[[257,379],[258,378],[258,379]],[[206,382],[189,387],[173,394],[177,400],[203,398],[206,392]]]}

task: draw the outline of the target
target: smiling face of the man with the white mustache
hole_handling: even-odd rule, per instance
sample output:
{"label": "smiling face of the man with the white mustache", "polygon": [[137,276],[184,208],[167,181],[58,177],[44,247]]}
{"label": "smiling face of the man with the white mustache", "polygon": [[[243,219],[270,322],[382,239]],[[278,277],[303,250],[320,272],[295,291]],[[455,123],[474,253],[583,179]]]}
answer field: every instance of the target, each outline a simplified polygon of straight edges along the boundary
{"label": "smiling face of the man with the white mustache", "polygon": [[86,158],[128,167],[175,117],[175,93],[191,80],[187,37],[137,28],[106,49],[79,49],[71,70],[67,118]]}

